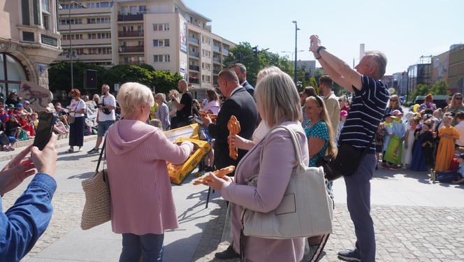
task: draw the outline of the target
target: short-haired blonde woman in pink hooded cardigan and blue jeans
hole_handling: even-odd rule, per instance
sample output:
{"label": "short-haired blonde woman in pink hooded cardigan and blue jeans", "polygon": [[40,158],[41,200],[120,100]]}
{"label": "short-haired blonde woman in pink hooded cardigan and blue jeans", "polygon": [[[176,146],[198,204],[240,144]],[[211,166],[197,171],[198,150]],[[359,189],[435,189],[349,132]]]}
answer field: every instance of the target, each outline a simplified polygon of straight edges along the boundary
{"label": "short-haired blonde woman in pink hooded cardigan and blue jeans", "polygon": [[184,163],[194,146],[171,143],[145,124],[154,105],[145,85],[127,82],[117,94],[124,119],[106,136],[111,225],[122,234],[119,261],[161,261],[164,231],[178,227],[166,161]]}

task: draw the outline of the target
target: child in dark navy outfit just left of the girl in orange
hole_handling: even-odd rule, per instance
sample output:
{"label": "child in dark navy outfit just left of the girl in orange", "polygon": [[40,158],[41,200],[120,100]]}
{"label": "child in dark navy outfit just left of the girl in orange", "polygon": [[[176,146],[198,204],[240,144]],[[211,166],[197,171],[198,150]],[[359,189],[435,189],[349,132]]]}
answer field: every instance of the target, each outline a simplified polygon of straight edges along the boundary
{"label": "child in dark navy outfit just left of the girl in orange", "polygon": [[428,120],[421,128],[414,131],[414,145],[412,145],[412,160],[410,169],[413,171],[427,171],[433,167],[434,133],[433,121]]}

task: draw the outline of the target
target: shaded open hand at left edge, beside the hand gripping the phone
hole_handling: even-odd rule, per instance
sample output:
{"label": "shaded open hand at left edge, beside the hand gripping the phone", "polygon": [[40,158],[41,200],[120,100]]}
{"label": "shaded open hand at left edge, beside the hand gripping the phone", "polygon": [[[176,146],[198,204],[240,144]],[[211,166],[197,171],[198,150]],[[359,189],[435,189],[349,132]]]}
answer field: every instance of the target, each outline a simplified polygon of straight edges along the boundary
{"label": "shaded open hand at left edge, beside the hand gripping the phone", "polygon": [[29,175],[34,175],[34,163],[31,159],[24,157],[31,152],[32,145],[22,150],[13,160],[11,160],[0,172],[0,194],[3,196],[8,191],[15,189]]}

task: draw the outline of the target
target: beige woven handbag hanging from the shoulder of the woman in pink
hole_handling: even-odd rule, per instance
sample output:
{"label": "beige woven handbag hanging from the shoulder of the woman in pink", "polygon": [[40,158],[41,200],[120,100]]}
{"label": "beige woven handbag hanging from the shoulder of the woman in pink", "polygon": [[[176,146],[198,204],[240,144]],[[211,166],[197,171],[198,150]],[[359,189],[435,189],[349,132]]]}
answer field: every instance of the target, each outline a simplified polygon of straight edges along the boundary
{"label": "beige woven handbag hanging from the shoulder of the woman in pink", "polygon": [[104,168],[104,164],[103,170],[99,171],[105,145],[106,140],[103,143],[95,173],[82,181],[82,189],[85,193],[85,205],[84,210],[82,210],[80,228],[83,230],[99,226],[111,220],[111,194],[108,171]]}

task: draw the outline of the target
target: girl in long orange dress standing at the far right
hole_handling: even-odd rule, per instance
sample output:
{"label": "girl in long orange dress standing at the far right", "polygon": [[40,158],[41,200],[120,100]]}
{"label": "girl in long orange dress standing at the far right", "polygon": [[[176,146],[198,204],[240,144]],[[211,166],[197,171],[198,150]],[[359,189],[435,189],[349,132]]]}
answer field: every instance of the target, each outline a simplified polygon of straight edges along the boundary
{"label": "girl in long orange dress standing at the far right", "polygon": [[452,118],[449,115],[443,117],[444,126],[438,130],[440,143],[437,149],[437,161],[435,170],[437,172],[446,172],[454,156],[454,140],[459,139],[458,130],[451,126]]}

